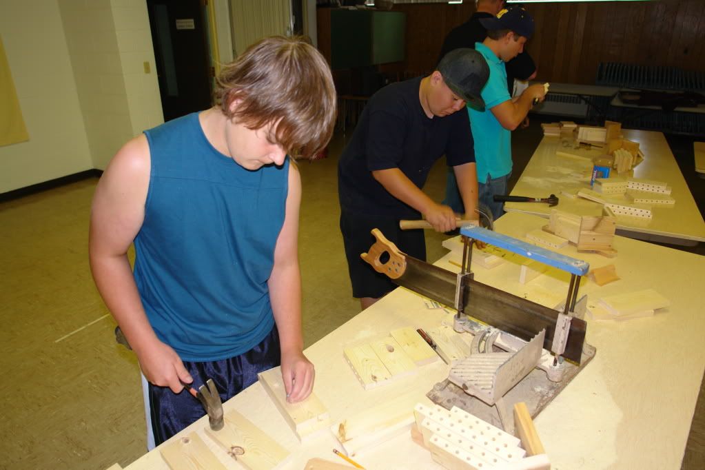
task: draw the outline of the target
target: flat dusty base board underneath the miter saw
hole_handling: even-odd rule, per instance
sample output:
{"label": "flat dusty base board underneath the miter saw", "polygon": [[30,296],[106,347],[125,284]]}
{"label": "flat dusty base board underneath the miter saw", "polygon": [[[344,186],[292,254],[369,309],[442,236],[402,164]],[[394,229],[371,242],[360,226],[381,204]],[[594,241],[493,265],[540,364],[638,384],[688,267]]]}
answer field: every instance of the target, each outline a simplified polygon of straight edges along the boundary
{"label": "flat dusty base board underneath the miter saw", "polygon": [[[504,416],[512,416],[514,404],[525,402],[532,418],[535,418],[589,364],[592,358],[595,357],[595,352],[594,347],[587,344],[587,342],[584,343],[580,366],[567,363],[563,380],[560,382],[549,381],[546,372],[534,369],[517,383],[514,388],[509,390],[502,400],[499,400],[494,406],[482,402],[477,397],[467,395],[462,388],[451,383],[447,378],[443,382],[436,383],[426,396],[443,408],[458,407],[464,409],[479,419],[483,419],[498,428],[504,428],[504,431],[513,434],[513,420],[505,420],[508,423],[503,426],[503,421],[500,419],[500,409]],[[511,427],[511,429],[507,429],[508,427]]]}

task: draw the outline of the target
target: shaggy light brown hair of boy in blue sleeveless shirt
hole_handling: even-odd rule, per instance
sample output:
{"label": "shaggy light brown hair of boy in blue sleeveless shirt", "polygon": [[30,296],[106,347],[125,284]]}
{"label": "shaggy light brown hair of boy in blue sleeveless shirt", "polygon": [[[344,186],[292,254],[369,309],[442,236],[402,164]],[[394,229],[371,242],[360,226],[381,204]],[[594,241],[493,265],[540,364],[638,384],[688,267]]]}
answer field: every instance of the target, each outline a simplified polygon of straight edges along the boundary
{"label": "shaggy light brown hair of boy in blue sleeveless shirt", "polygon": [[337,98],[331,70],[303,37],[273,36],[252,44],[221,70],[215,95],[223,113],[247,128],[276,125],[276,143],[292,156],[316,156],[333,135]]}

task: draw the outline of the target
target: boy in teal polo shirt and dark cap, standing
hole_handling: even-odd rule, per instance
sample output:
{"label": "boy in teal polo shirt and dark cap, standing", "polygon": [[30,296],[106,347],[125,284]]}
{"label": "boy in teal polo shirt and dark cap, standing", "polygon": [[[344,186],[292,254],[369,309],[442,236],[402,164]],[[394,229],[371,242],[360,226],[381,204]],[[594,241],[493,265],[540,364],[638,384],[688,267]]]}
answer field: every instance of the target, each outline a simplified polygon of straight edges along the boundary
{"label": "boy in teal polo shirt and dark cap, standing", "polygon": [[506,194],[512,172],[511,131],[526,118],[534,99],[544,101],[544,85],[532,85],[515,99],[507,89],[505,62],[524,50],[534,33],[534,20],[523,8],[502,10],[494,18],[482,18],[487,28],[483,42],[475,43],[487,61],[489,79],[482,89],[485,111],[470,107],[470,127],[475,139],[475,159],[479,181],[479,202],[486,204],[494,218],[503,214],[503,204],[494,202],[495,194]]}

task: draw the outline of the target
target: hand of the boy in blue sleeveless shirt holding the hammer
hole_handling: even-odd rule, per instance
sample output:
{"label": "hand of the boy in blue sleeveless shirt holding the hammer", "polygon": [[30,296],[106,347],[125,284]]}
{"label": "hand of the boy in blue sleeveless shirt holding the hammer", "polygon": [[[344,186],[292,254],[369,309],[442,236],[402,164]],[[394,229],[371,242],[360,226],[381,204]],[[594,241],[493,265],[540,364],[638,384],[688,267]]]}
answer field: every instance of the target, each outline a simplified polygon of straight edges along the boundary
{"label": "hand of the boy in blue sleeveless shirt holding the hammer", "polygon": [[164,342],[157,341],[137,353],[140,369],[147,381],[159,387],[171,388],[174,393],[183,390],[183,383],[192,383],[193,378],[183,366],[176,351]]}

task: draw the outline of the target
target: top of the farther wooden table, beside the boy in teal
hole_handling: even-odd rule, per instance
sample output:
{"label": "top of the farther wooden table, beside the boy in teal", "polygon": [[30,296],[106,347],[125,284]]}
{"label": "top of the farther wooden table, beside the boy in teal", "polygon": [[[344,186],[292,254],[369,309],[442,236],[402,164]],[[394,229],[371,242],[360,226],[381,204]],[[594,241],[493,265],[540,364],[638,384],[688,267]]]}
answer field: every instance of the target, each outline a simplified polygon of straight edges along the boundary
{"label": "top of the farther wooden table, beside the boy in teal", "polygon": [[[630,175],[634,178],[668,183],[673,188],[671,197],[675,199],[675,205],[652,206],[654,217],[650,221],[618,217],[618,233],[639,240],[674,245],[694,246],[705,241],[705,222],[663,134],[645,130],[622,132],[625,139],[639,142],[639,148],[645,155],[644,161],[639,163]],[[585,158],[566,158],[556,155],[556,151],[565,151]],[[601,204],[582,198],[570,199],[560,194],[561,190],[575,192],[580,188],[589,189],[591,159],[601,154],[603,151],[600,149],[572,149],[563,147],[559,137],[544,137],[511,194],[548,197],[548,194],[553,193],[560,199],[556,209],[577,215],[601,215]],[[505,210],[543,217],[551,214],[548,204],[538,203],[508,202],[505,204]]]}

